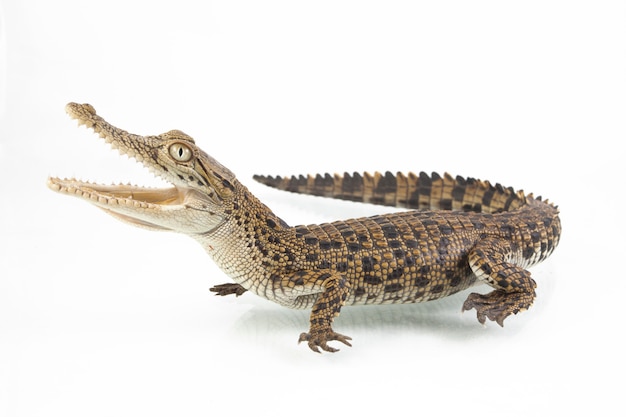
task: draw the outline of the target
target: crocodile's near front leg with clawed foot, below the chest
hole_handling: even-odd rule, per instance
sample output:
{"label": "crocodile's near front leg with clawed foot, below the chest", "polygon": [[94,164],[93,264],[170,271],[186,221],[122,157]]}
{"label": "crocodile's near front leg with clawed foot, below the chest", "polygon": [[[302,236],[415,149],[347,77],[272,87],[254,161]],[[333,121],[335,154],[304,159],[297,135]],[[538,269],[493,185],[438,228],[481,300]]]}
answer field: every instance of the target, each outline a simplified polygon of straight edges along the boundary
{"label": "crocodile's near front leg with clawed foot, below the chest", "polygon": [[338,340],[347,346],[352,346],[348,342],[351,340],[350,337],[335,333],[332,329],[333,320],[339,315],[350,293],[348,280],[336,272],[326,270],[299,271],[285,279],[290,284],[296,282],[303,285],[305,289],[311,289],[313,294],[321,289],[311,309],[309,331],[300,335],[298,343],[307,342],[309,348],[318,353],[320,348],[327,352],[338,351],[339,349],[328,346],[331,340]]}

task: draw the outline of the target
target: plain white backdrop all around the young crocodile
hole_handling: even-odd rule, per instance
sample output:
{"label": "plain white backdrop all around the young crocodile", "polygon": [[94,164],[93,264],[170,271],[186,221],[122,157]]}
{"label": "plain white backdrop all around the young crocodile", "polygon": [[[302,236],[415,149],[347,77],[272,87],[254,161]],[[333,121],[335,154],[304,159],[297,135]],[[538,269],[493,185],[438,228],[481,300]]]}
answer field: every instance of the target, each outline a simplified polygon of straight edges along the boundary
{"label": "plain white backdrop all around the young crocodile", "polygon": [[[4,0],[0,70],[0,415],[624,415],[624,1]],[[561,245],[503,329],[467,292],[345,308],[317,355],[192,239],[46,188],[154,182],[68,101],[184,130],[290,224],[381,210],[252,174],[449,171],[549,197]]]}

